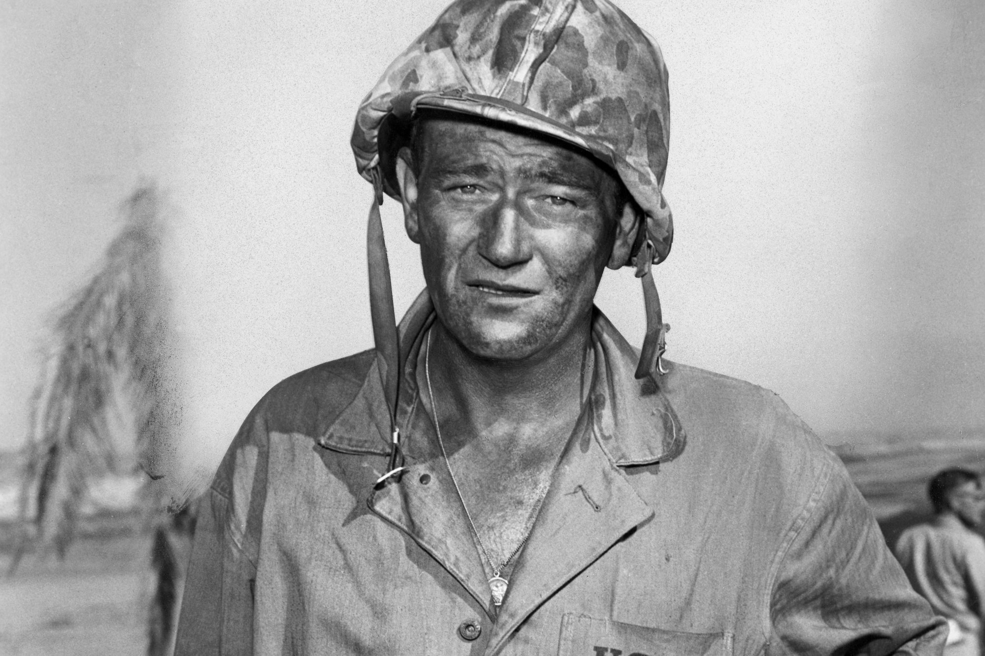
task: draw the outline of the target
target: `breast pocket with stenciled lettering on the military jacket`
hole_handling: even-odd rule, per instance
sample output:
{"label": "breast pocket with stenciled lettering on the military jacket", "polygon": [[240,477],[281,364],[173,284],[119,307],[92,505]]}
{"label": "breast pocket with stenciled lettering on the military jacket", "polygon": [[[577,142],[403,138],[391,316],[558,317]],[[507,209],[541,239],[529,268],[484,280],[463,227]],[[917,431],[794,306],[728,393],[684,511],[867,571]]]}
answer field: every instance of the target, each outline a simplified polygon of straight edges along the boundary
{"label": "breast pocket with stenciled lettering on the military jacket", "polygon": [[685,633],[566,614],[558,656],[731,656],[732,633]]}

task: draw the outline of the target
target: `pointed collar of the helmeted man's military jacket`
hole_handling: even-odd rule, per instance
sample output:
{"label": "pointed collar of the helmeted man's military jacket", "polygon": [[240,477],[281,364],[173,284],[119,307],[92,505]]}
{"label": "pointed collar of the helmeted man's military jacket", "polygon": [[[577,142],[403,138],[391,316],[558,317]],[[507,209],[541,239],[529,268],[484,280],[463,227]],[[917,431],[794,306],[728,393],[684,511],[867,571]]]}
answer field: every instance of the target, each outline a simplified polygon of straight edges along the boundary
{"label": "pointed collar of the helmeted man's military jacket", "polygon": [[[433,320],[434,310],[426,289],[407,310],[399,326],[404,372],[397,423],[404,435],[418,397],[418,354]],[[677,413],[652,378],[634,377],[638,353],[598,308],[592,320],[592,346],[595,355],[589,398],[592,427],[596,440],[613,464],[648,465],[680,455],[687,436]],[[319,437],[319,444],[347,453],[389,454],[389,419],[376,366],[373,361],[360,392]],[[376,429],[367,431],[366,426]],[[413,457],[415,450],[413,440],[404,444],[406,454]]]}

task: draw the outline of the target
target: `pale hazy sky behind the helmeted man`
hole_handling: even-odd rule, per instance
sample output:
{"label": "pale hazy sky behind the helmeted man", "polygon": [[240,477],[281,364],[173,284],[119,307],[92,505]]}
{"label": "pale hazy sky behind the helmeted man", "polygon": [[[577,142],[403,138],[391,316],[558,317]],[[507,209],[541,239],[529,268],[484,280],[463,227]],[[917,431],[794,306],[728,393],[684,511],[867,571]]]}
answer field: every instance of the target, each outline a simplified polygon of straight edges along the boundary
{"label": "pale hazy sky behind the helmeted man", "polygon": [[[180,211],[194,457],[278,380],[370,347],[351,125],[444,4],[3,3],[0,448],[25,439],[45,317],[142,179]],[[671,74],[668,356],[773,389],[821,432],[985,426],[985,5],[619,4]],[[384,221],[402,311],[423,278],[392,201]],[[641,341],[628,271],[599,303]]]}

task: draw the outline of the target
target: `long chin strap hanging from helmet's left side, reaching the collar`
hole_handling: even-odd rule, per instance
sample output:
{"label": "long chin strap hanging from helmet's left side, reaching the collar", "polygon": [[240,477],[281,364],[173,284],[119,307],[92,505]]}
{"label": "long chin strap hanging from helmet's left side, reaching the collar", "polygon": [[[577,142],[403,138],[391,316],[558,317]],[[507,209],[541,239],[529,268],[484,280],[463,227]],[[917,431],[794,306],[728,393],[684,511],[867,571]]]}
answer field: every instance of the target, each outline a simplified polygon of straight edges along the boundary
{"label": "long chin strap hanging from helmet's left side, reaching the collar", "polygon": [[386,256],[386,239],[379,206],[383,204],[383,181],[379,167],[371,169],[373,200],[369,208],[366,229],[366,259],[369,273],[369,313],[372,317],[372,336],[376,346],[376,368],[383,385],[383,398],[390,416],[390,462],[387,473],[376,480],[376,488],[391,481],[400,482],[407,469],[400,448],[400,428],[397,427],[397,399],[400,394],[400,341],[397,319],[393,310],[393,287],[390,283],[390,262]]}

